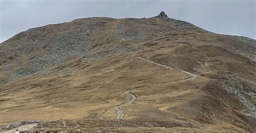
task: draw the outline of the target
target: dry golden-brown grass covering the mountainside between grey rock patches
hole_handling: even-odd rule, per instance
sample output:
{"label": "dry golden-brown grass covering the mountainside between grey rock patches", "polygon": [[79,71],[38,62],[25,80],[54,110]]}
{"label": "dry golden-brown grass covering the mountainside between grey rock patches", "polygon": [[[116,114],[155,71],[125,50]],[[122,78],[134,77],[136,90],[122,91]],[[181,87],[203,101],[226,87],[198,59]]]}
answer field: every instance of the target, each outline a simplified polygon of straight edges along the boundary
{"label": "dry golden-brown grass covering the mountainside between grey rock patches", "polygon": [[[77,26],[91,21],[97,22],[97,19],[80,19],[70,23],[39,27],[37,30],[42,34],[38,31],[25,32],[28,36],[26,39],[50,40],[55,34],[70,32]],[[143,41],[119,39],[116,29],[122,24],[127,27],[126,33],[131,34],[140,30],[147,33],[142,38]],[[140,24],[147,24],[150,30],[143,29]],[[54,28],[51,29],[51,26]],[[38,34],[36,38],[33,37],[35,34]],[[50,75],[30,75],[1,85],[0,125],[24,120],[59,118],[84,122],[114,120],[116,112],[112,108],[126,102],[130,95],[123,92],[131,89],[137,99],[132,104],[122,107],[125,111],[124,122],[127,120],[127,123],[142,121],[156,124],[154,128],[136,125],[137,129],[133,131],[254,129],[255,117],[246,116],[243,111],[246,107],[241,105],[238,96],[228,92],[227,87],[223,86],[229,81],[225,79],[226,75],[237,74],[244,80],[239,82],[239,85],[247,88],[245,92],[253,93],[248,99],[255,103],[255,62],[245,56],[251,55],[253,51],[231,43],[241,41],[231,36],[197,29],[180,29],[158,18],[110,19],[101,30],[87,34],[91,37],[89,43],[96,44],[92,51],[108,53],[109,56],[95,61],[84,60],[86,57],[70,57],[66,62],[48,69],[50,72],[72,65],[67,75],[59,72]],[[16,39],[1,45],[16,47],[16,43],[21,41],[19,38]],[[247,44],[244,45],[249,47]],[[136,51],[116,53],[116,46],[133,46]],[[17,56],[26,57],[28,60],[22,62],[22,65],[26,65],[30,59],[45,54],[49,48],[50,46],[47,46],[42,50],[32,51],[29,55]],[[6,80],[9,75],[4,73],[3,69],[9,67],[12,62],[10,55],[15,54],[7,55],[5,52],[1,55],[4,56],[0,60],[3,64],[0,69],[0,80]],[[185,73],[143,61],[138,58],[140,56],[199,76],[189,78],[190,76]],[[223,77],[218,78],[220,76]],[[237,79],[237,83],[238,81],[240,79]],[[220,82],[224,84],[219,85]],[[230,83],[235,85],[235,82]],[[133,124],[113,125],[113,128],[117,131],[129,131]],[[102,126],[109,129],[112,125]]]}

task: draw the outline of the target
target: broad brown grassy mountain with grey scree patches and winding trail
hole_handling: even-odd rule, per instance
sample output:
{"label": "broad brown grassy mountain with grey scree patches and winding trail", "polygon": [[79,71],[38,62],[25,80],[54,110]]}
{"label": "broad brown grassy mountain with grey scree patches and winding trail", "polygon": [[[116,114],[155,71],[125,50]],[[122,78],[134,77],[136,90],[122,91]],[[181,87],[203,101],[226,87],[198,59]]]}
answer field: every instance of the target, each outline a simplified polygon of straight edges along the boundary
{"label": "broad brown grassy mountain with grey scree patches and winding trail", "polygon": [[92,17],[0,47],[0,131],[255,131],[251,38],[166,16]]}

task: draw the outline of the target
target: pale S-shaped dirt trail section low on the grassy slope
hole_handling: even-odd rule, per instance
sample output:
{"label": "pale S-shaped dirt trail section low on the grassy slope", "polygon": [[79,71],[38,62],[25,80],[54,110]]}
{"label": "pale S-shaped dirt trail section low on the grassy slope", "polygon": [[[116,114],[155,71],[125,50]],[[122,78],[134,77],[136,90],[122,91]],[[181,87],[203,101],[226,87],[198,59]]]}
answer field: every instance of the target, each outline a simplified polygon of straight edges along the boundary
{"label": "pale S-shaped dirt trail section low on the grassy slope", "polygon": [[125,106],[127,104],[131,104],[134,100],[136,100],[136,95],[130,92],[130,90],[126,90],[124,93],[130,94],[132,97],[127,101],[127,103],[119,104],[118,106],[114,107],[113,109],[117,111],[117,118],[116,119],[122,119],[124,116],[124,111],[120,109],[120,107]]}

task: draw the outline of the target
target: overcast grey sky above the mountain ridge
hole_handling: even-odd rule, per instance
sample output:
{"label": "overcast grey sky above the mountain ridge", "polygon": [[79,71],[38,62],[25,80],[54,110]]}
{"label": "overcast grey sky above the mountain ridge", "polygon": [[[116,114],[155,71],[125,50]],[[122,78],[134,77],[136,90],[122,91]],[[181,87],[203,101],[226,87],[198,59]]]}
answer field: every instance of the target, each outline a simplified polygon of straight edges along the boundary
{"label": "overcast grey sky above the mountain ridge", "polygon": [[76,18],[146,18],[165,11],[212,32],[256,39],[256,0],[0,0],[0,42],[15,34]]}

